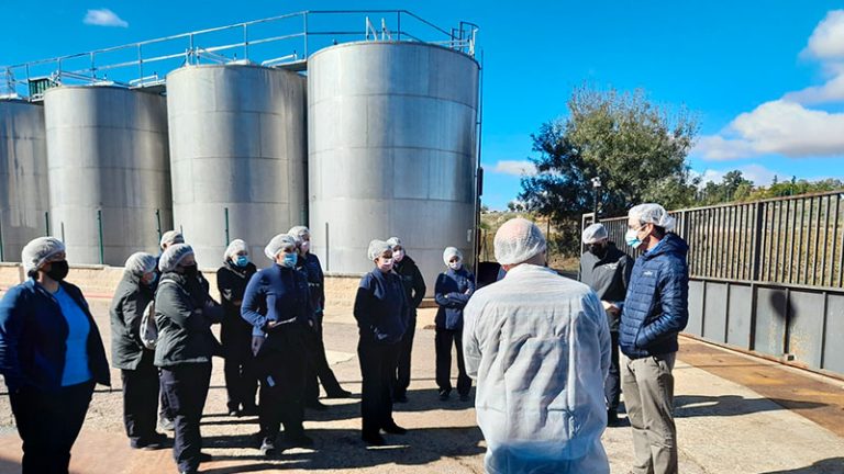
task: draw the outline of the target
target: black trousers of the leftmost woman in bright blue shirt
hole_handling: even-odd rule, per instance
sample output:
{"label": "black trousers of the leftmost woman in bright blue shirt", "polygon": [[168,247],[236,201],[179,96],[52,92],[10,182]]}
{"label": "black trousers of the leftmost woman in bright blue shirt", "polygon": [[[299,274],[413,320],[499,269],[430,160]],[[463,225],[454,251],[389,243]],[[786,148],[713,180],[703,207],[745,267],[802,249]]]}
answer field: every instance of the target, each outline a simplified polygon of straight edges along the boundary
{"label": "black trousers of the leftmost woman in bright blue shirt", "polygon": [[82,429],[93,385],[90,381],[56,391],[23,387],[9,394],[23,441],[22,473],[67,474],[70,449]]}

